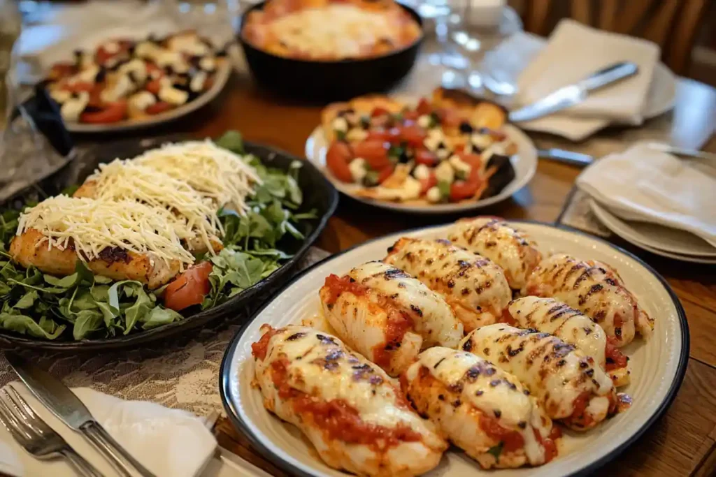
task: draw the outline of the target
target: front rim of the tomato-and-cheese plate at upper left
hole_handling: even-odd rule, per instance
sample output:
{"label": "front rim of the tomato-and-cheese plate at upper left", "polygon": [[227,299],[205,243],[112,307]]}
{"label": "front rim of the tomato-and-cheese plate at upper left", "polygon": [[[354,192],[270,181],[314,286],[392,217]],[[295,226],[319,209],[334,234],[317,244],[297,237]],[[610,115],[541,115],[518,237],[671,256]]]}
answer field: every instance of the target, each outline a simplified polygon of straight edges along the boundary
{"label": "front rim of the tomato-and-cheese plate at upper left", "polygon": [[216,99],[219,94],[221,94],[224,87],[226,87],[228,79],[229,77],[231,77],[231,71],[233,70],[231,58],[226,56],[224,59],[226,61],[223,62],[223,65],[216,71],[218,81],[214,82],[214,84],[208,91],[204,92],[203,94],[200,94],[193,101],[188,102],[186,104],[182,104],[176,109],[170,109],[169,111],[157,114],[156,116],[150,117],[148,119],[140,119],[138,121],[133,119],[125,119],[124,121],[115,124],[84,124],[81,122],[65,122],[64,127],[65,129],[67,129],[67,131],[72,133],[95,134],[135,131],[137,129],[147,129],[150,127],[158,126],[160,124],[175,121],[176,119],[184,117],[187,114],[191,114],[196,110],[204,107],[206,104],[212,102],[213,99]]}

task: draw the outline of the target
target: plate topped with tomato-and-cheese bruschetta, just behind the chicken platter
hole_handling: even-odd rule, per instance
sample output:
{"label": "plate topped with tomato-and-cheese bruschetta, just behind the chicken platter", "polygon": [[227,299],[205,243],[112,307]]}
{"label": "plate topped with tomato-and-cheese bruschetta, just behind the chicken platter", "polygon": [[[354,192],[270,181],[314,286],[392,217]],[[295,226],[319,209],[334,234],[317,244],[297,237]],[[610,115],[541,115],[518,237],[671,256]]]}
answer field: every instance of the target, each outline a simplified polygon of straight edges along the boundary
{"label": "plate topped with tomato-and-cheese bruschetta, just behind the chicken platter", "polygon": [[306,157],[345,195],[402,212],[485,207],[532,179],[537,152],[499,104],[458,89],[333,103]]}

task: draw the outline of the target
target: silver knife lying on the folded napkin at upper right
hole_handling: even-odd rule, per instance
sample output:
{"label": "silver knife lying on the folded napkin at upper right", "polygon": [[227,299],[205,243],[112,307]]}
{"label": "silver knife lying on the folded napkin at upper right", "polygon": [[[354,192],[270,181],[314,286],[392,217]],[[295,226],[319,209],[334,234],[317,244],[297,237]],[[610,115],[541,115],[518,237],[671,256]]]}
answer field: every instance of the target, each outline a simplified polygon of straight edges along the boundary
{"label": "silver knife lying on the folded napkin at upper right", "polygon": [[576,84],[557,89],[538,102],[510,112],[509,119],[511,122],[530,121],[574,106],[584,101],[589,93],[614,84],[621,79],[632,77],[638,72],[639,67],[633,62],[611,64]]}

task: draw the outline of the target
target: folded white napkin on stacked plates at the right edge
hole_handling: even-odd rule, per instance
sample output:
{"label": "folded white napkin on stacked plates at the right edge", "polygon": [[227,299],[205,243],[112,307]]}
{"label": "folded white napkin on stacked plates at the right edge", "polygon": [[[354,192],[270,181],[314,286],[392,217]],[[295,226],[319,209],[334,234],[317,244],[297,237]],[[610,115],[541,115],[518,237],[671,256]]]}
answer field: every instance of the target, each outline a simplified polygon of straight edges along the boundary
{"label": "folded white napkin on stacked plates at the right edge", "polygon": [[636,144],[594,162],[577,186],[625,220],[685,230],[716,247],[716,179],[671,154]]}

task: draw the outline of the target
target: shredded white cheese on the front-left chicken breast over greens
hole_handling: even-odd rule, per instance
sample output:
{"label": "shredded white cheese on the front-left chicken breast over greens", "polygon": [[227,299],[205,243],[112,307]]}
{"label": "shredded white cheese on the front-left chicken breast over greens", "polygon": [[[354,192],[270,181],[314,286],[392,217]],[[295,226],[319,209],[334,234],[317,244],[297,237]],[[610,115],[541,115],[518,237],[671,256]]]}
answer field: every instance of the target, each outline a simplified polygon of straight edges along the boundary
{"label": "shredded white cheese on the front-left chicken breast over greens", "polygon": [[31,229],[45,237],[38,245],[61,250],[74,247],[84,262],[100,258],[107,247],[151,253],[166,262],[194,261],[181,243],[194,234],[187,222],[169,210],[134,200],[50,197],[20,215],[17,235]]}

